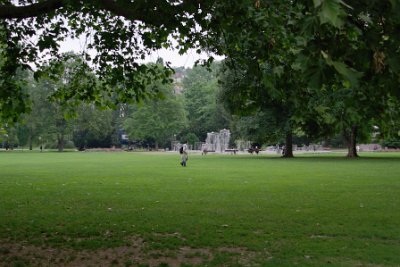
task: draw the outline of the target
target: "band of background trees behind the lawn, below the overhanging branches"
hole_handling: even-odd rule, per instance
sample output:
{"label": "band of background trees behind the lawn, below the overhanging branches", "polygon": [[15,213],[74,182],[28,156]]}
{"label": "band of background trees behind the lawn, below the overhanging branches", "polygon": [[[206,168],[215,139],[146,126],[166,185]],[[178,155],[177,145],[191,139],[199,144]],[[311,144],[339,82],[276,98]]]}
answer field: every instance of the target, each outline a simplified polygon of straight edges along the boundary
{"label": "band of background trees behind the lawn, below the overhanging branches", "polygon": [[[85,93],[99,90],[98,87],[102,86],[96,75],[85,68],[79,56],[67,54],[62,65],[49,65],[44,69],[46,75],[39,79],[34,79],[29,71],[19,73],[23,92],[29,99],[29,112],[14,124],[2,124],[0,145],[10,149],[41,146],[59,151],[113,146],[160,149],[170,148],[173,141],[188,141],[195,146],[197,142],[205,141],[208,132],[226,128],[232,133],[231,146],[237,139],[250,140],[259,147],[284,145],[288,142],[288,129],[292,144],[301,146],[324,142],[333,147],[347,146],[345,133],[340,125],[335,125],[333,118],[332,126],[335,127],[327,124],[322,129],[316,123],[320,114],[301,111],[310,103],[301,102],[300,97],[289,95],[290,102],[278,102],[262,88],[256,91],[257,94],[247,91],[254,90],[250,85],[255,81],[246,66],[230,69],[227,64],[229,62],[225,60],[208,68],[179,68],[180,79],[174,83],[153,82],[148,85],[151,88],[147,90],[154,92],[155,97],[149,95],[138,103],[118,104],[110,109],[103,106],[102,101],[114,95],[104,96],[101,101],[86,102],[79,96],[56,97],[76,87]],[[275,94],[282,97],[280,94],[290,92],[285,90]],[[316,103],[321,105],[326,98],[324,96]],[[388,118],[393,124],[390,128],[399,129],[399,119],[394,116],[397,103],[391,105],[393,110],[387,112],[393,116]],[[320,109],[324,111],[322,107]],[[398,147],[398,139],[393,138],[396,133],[386,139],[382,135],[373,137],[372,133],[376,131],[373,126],[374,120],[366,121],[358,132],[358,140]]]}

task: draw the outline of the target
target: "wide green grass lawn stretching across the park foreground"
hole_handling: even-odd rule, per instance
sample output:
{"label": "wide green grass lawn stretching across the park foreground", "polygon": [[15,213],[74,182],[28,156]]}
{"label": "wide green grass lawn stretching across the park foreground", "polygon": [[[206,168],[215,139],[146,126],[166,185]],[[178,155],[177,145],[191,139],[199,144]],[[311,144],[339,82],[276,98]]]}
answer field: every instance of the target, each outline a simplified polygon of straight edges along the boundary
{"label": "wide green grass lawn stretching across the park foreground", "polygon": [[0,152],[0,266],[400,266],[400,154]]}

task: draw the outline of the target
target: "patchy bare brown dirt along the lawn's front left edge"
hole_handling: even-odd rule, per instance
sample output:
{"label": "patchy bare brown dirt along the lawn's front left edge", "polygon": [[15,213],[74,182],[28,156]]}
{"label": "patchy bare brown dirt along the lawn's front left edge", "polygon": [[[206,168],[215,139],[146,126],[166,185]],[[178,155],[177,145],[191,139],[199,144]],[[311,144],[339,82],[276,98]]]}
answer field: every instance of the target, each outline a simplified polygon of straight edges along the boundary
{"label": "patchy bare brown dirt along the lawn's front left edge", "polygon": [[[155,234],[163,237],[184,238],[179,233]],[[241,247],[192,248],[149,250],[140,237],[129,237],[129,245],[97,249],[74,250],[40,247],[27,242],[0,240],[0,267],[6,266],[199,266],[212,261],[219,253],[227,253],[233,262],[254,266],[259,253]]]}

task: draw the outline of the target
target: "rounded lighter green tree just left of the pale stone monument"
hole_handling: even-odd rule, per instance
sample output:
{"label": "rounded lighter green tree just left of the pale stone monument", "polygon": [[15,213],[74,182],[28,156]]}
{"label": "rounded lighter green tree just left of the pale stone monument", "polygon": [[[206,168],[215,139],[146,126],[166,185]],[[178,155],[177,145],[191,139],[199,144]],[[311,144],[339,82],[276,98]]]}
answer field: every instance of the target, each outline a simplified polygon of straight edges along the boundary
{"label": "rounded lighter green tree just left of the pale stone monument", "polygon": [[187,120],[183,102],[173,94],[171,85],[156,83],[151,86],[157,87],[164,99],[145,100],[131,112],[124,125],[130,140],[152,139],[158,149],[180,133],[187,126]]}

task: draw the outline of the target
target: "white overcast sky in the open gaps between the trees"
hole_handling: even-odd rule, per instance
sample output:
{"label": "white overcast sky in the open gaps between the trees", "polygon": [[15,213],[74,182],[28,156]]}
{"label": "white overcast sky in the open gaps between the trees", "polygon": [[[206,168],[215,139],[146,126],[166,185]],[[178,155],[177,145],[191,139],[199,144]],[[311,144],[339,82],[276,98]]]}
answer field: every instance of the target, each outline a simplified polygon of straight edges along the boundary
{"label": "white overcast sky in the open gaps between the trees", "polygon": [[[81,52],[83,47],[85,46],[84,41],[79,39],[69,39],[66,42],[62,43],[60,46],[61,52]],[[194,62],[198,59],[207,59],[207,54],[197,54],[195,50],[189,50],[188,53],[184,55],[179,55],[178,51],[171,51],[162,49],[154,52],[149,57],[145,59],[145,62],[155,62],[157,58],[163,58],[164,61],[171,62],[172,67],[185,67],[192,68]],[[216,60],[222,60],[222,57],[215,57]]]}

